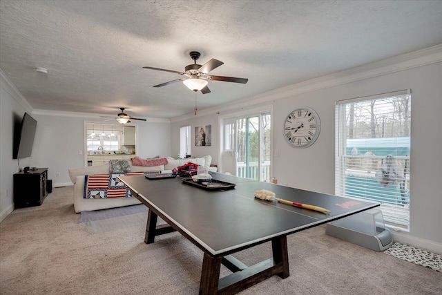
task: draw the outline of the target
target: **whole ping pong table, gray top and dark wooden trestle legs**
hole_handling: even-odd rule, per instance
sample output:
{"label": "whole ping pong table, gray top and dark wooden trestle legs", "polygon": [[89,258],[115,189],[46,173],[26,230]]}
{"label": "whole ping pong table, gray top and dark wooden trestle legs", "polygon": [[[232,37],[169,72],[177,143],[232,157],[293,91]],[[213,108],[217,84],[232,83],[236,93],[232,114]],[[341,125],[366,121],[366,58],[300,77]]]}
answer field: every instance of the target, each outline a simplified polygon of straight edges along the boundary
{"label": "whole ping pong table, gray top and dark wooden trestle legs", "polygon": [[[211,173],[213,179],[236,184],[234,189],[207,191],[184,184],[182,178],[148,180],[122,176],[135,198],[148,207],[144,242],[179,231],[203,252],[200,294],[235,294],[262,280],[289,276],[287,235],[350,216],[379,205],[268,182]],[[321,213],[254,198],[267,189],[277,198],[314,204],[331,210]],[[167,225],[157,225],[158,216]],[[247,266],[231,254],[271,242],[273,257]],[[220,278],[221,264],[232,274]]]}

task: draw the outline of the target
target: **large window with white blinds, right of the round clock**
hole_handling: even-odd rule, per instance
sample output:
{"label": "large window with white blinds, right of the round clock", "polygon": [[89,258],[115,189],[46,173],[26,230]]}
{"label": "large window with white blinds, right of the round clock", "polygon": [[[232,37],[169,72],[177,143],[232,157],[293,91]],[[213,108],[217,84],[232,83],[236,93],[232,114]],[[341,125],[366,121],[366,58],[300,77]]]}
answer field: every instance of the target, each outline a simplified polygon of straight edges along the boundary
{"label": "large window with white blinds, right of the round clock", "polygon": [[385,225],[410,227],[411,91],[336,102],[335,194],[381,202]]}

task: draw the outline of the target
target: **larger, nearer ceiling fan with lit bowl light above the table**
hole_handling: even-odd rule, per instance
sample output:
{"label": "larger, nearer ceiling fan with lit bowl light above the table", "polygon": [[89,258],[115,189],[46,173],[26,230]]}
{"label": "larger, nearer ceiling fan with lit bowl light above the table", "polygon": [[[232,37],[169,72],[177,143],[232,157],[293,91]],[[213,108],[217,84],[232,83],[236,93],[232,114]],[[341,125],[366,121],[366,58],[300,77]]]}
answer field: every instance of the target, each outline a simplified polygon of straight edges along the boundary
{"label": "larger, nearer ceiling fan with lit bowl light above the table", "polygon": [[184,85],[187,86],[190,90],[193,91],[201,91],[203,94],[210,93],[209,87],[207,87],[207,80],[212,81],[222,81],[222,82],[234,82],[234,83],[241,83],[246,84],[249,79],[244,78],[236,78],[236,77],[224,77],[224,76],[213,76],[213,75],[207,75],[211,70],[218,68],[218,66],[221,66],[224,64],[222,61],[219,61],[218,59],[211,59],[206,62],[206,64],[203,64],[202,66],[200,64],[197,64],[197,59],[200,58],[201,54],[197,51],[192,51],[189,53],[191,58],[193,59],[193,64],[189,64],[189,66],[186,66],[184,68],[183,72],[178,72],[176,70],[166,70],[164,68],[153,68],[151,66],[144,66],[143,68],[148,68],[150,70],[162,70],[164,72],[170,72],[170,73],[176,73],[178,75],[186,75],[186,78],[176,79],[172,80],[166,83],[158,84],[153,87],[162,87],[169,84],[173,84],[175,82],[182,81]]}

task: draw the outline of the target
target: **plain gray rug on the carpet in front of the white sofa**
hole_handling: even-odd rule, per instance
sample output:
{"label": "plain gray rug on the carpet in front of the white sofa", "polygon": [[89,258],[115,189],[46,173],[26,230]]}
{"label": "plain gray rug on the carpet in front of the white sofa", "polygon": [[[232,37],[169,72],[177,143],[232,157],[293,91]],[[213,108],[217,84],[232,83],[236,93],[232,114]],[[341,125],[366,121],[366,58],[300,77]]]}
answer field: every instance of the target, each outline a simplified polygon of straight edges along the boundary
{"label": "plain gray rug on the carpet in front of the white sofa", "polygon": [[104,209],[97,211],[81,211],[77,222],[93,233],[124,229],[146,224],[148,208],[144,204]]}

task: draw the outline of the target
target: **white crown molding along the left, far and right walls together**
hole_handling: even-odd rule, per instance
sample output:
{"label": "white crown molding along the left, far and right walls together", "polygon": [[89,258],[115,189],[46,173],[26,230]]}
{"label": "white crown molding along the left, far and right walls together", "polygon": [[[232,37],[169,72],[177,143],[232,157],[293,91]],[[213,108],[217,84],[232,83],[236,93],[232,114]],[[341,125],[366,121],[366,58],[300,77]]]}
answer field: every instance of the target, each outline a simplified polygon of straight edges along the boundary
{"label": "white crown molding along the left, far and right walls together", "polygon": [[[340,72],[324,75],[322,77],[309,79],[304,82],[299,82],[290,86],[275,89],[240,99],[236,102],[229,103],[222,106],[214,106],[212,108],[206,108],[198,111],[197,115],[189,113],[179,117],[173,117],[171,119],[164,118],[151,118],[147,119],[147,122],[155,123],[171,123],[181,122],[184,120],[191,120],[198,117],[204,117],[206,115],[213,115],[219,113],[229,113],[232,111],[238,111],[238,109],[249,108],[250,106],[260,106],[269,103],[274,103],[277,99],[284,99],[287,97],[293,97],[294,95],[300,95],[302,93],[309,93],[311,91],[318,91],[320,89],[338,86],[342,84],[361,81],[363,79],[369,79],[372,77],[378,77],[381,75],[387,75],[390,73],[396,73],[401,70],[408,70],[410,68],[416,68],[419,66],[425,66],[428,64],[434,64],[442,61],[442,44],[416,50],[412,53],[405,53],[389,59],[383,59],[381,61],[375,61],[363,66],[357,66],[355,68],[349,68]],[[0,68],[0,82],[3,89],[8,92],[26,111],[35,115],[54,115],[63,117],[82,117],[82,118],[97,118],[100,114],[91,113],[77,113],[66,111],[49,111],[42,109],[34,109],[29,104],[28,100],[21,95],[17,88],[10,82],[8,77],[3,73]]]}

